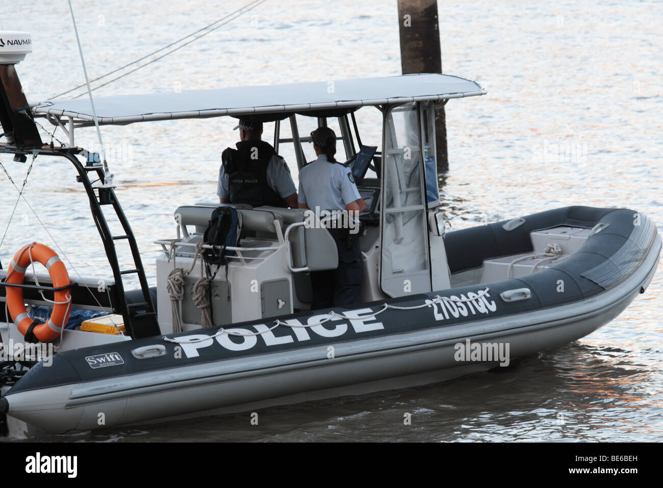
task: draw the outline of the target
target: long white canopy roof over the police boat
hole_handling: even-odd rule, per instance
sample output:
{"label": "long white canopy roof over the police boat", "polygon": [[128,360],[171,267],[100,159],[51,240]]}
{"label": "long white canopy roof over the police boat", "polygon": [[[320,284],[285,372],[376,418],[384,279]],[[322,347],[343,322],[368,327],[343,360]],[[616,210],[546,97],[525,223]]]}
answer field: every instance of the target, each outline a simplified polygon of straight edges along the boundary
{"label": "long white canopy roof over the police boat", "polygon": [[[138,95],[95,97],[100,124],[124,125],[154,120],[290,114],[320,110],[351,111],[362,106],[406,102],[440,102],[449,98],[484,95],[479,84],[448,74],[406,74],[381,78],[351,78],[267,86],[237,86]],[[93,124],[90,100],[46,100],[32,106],[32,114],[72,118],[77,127]],[[280,116],[278,115],[280,114]]]}

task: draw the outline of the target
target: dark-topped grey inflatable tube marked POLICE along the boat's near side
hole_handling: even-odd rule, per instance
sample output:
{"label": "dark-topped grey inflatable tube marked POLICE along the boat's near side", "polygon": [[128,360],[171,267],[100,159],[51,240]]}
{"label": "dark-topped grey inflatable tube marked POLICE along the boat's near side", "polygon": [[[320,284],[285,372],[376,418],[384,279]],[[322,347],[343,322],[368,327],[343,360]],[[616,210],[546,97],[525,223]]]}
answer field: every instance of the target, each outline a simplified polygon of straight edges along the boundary
{"label": "dark-topped grey inflatable tube marked POLICE along the boat's near side", "polygon": [[[56,355],[51,366],[40,363],[30,369],[0,399],[0,408],[38,428],[63,433],[386,390],[507,365],[609,323],[652,280],[661,248],[655,226],[643,216],[644,226],[632,224],[629,230],[624,222],[633,220],[631,210],[601,210],[599,220],[607,224],[600,236],[603,259],[597,234],[587,239],[578,256],[526,278],[438,292],[471,299],[464,314],[460,303],[446,308],[432,303],[438,293],[430,293],[387,301],[412,307],[428,300],[427,307],[387,309],[372,316],[384,302],[368,303],[361,309],[336,309],[355,319],[336,317],[309,328],[280,326],[251,339],[223,333],[211,339],[219,330],[215,328],[167,336],[180,343],[152,337],[66,351]],[[608,246],[607,240],[617,244]],[[621,278],[597,273],[604,263]],[[560,276],[567,283],[564,293],[554,291]],[[485,287],[488,291],[481,296]],[[501,293],[523,287],[532,292],[530,298],[501,298]],[[320,321],[326,312],[281,320],[306,325]],[[265,331],[271,325],[255,321],[229,330]],[[204,340],[187,342],[196,338]],[[459,344],[502,345],[508,347],[508,357],[496,353],[493,361],[474,361],[459,355]]]}

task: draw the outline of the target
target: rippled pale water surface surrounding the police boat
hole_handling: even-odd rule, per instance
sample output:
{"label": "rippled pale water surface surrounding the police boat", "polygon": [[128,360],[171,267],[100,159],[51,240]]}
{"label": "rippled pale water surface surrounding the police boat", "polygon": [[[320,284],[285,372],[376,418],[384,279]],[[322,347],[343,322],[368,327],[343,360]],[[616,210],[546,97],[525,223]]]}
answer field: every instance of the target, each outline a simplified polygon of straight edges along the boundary
{"label": "rippled pale water surface surrounding the police boat", "polygon": [[[80,84],[66,3],[21,5],[30,12],[34,42],[34,52],[17,66],[29,100]],[[76,1],[90,77],[242,5]],[[444,72],[488,90],[447,105],[450,172],[442,191],[454,228],[572,204],[628,206],[663,222],[662,3],[464,1],[440,7]],[[351,1],[267,1],[95,94],[399,74],[397,22],[395,2],[359,9]],[[3,11],[0,29],[26,27],[24,13]],[[379,143],[379,121],[377,111],[360,119],[364,143]],[[111,166],[152,284],[158,256],[152,242],[174,236],[176,206],[216,199],[220,153],[235,141],[234,125],[221,118],[102,127],[105,143],[125,151]],[[55,137],[65,140],[60,129]],[[77,131],[77,143],[94,144],[93,129]],[[296,170],[292,152],[282,153]],[[0,162],[20,186],[27,165],[7,156]],[[3,232],[16,195],[0,173],[0,204],[8,209],[0,218]],[[38,157],[25,195],[80,274],[109,276],[68,162]],[[19,203],[0,259],[7,263],[32,240],[52,243]],[[662,440],[662,292],[659,271],[647,293],[599,331],[499,373],[271,408],[260,412],[258,426],[251,426],[248,414],[237,414],[46,439]],[[412,425],[404,425],[404,413],[412,414]]]}

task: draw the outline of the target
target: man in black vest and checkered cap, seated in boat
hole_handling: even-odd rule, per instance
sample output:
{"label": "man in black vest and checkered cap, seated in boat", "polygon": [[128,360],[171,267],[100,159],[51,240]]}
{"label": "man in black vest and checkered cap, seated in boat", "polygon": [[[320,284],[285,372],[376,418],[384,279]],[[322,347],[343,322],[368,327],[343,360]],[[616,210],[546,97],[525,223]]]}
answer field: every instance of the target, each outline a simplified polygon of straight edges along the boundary
{"label": "man in black vest and checkered cap, seated in boat", "polygon": [[262,140],[263,123],[240,119],[237,149],[221,153],[219,185],[221,203],[297,208],[297,191],[288,165]]}

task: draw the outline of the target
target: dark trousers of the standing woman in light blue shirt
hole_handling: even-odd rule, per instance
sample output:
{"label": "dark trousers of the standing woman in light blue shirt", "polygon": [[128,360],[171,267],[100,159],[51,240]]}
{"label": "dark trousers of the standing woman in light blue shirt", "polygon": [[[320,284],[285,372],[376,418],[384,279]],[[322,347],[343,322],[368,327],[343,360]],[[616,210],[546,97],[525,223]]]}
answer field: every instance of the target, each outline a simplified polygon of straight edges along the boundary
{"label": "dark trousers of the standing woman in light blue shirt", "polygon": [[358,303],[361,298],[363,265],[359,239],[347,248],[347,230],[327,229],[338,251],[338,268],[335,270],[311,272],[313,299],[311,309],[345,307]]}

